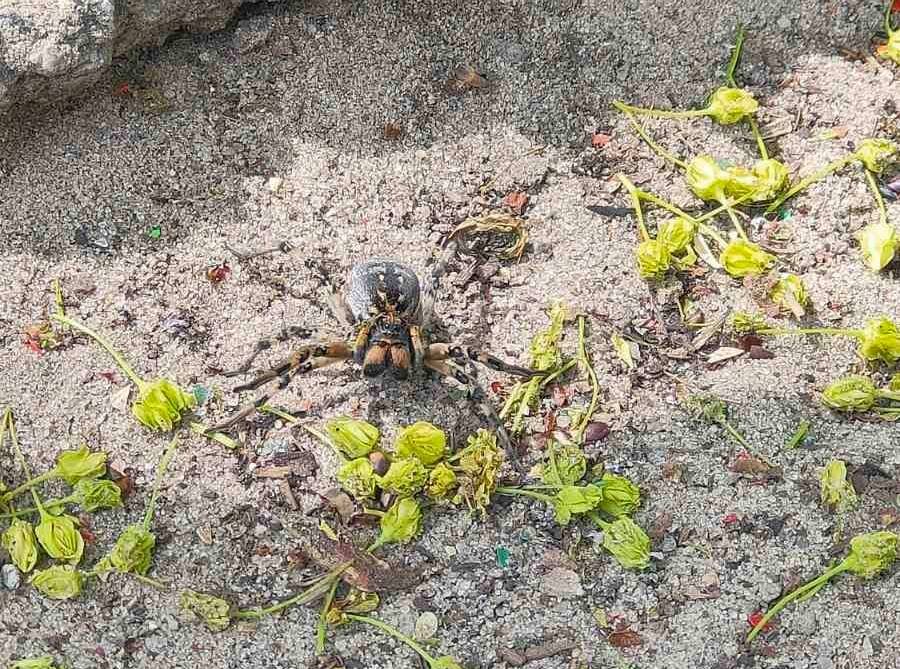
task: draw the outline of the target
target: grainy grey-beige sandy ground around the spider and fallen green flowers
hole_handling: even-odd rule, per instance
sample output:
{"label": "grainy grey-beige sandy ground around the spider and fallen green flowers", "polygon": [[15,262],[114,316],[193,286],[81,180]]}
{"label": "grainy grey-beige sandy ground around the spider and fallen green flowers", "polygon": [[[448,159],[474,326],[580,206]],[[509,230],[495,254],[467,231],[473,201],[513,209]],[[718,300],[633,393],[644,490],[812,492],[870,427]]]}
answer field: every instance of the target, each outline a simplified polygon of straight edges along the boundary
{"label": "grainy grey-beige sandy ground around the spider and fallen green flowers", "polygon": [[[0,401],[14,407],[36,469],[85,440],[136,483],[124,511],[90,519],[88,564],[140,517],[165,438],[111,404],[123,381],[101,375],[114,367],[97,347],[80,341],[40,356],[25,348],[23,329],[52,308],[54,278],[69,312],[109,333],[140,373],[222,390],[215,419],[236,401],[215,370],[233,367],[284,324],[331,324],[321,268],[340,277],[354,262],[386,256],[427,271],[442,234],[524,191],[531,242],[522,262],[464,287],[456,283],[465,263],[451,265],[438,300],[442,327],[524,363],[551,301],[591,314],[589,351],[613,428],[592,454],[640,484],[636,519],[658,530],[653,567],[624,571],[592,549],[588,528],[560,532],[540,505],[501,502],[484,521],[429,516],[418,544],[392,553],[401,567],[430,563],[427,575],[385,595],[379,615],[411,632],[422,611],[433,611],[439,651],[472,668],[511,666],[503,649],[558,639],[574,650],[528,666],[900,667],[896,569],[873,582],[844,578],[785,611],[777,631],[751,649],[741,644],[750,613],[834,557],[834,519],[818,504],[816,478],[829,457],[857,470],[861,504],[848,534],[877,529],[882,512],[896,510],[897,426],[838,417],[815,399],[827,382],[859,369],[852,344],[779,339],[767,343],[773,359],[715,369],[643,347],[637,370],[626,372],[610,334],[654,331],[651,293],[632,262],[635,223],[587,208],[627,204],[612,192],[618,171],[692,204],[677,172],[651,156],[609,101],[700,104],[721,82],[738,20],[750,29],[739,76],[764,104],[764,130],[788,130],[771,148],[795,174],[841,155],[879,121],[893,118],[900,140],[891,116],[900,105],[897,68],[842,51],[872,52],[881,3],[453,4],[463,3],[296,2],[250,11],[222,33],[134,54],[82,99],[0,125]],[[490,87],[448,94],[449,74],[466,63]],[[399,139],[384,137],[388,123],[402,128]],[[754,157],[745,127],[648,125],[681,156]],[[846,136],[819,139],[833,127]],[[612,136],[603,149],[590,146],[596,132]],[[896,269],[876,276],[857,256],[852,233],[876,217],[858,172],[827,179],[790,208],[793,239],[781,266],[806,281],[810,322],[856,326],[900,314]],[[890,215],[900,220],[900,205]],[[281,241],[294,250],[246,262],[225,248]],[[206,270],[224,260],[232,272],[214,286]],[[698,284],[708,288],[699,300],[707,318],[749,304],[740,282],[721,273]],[[677,345],[686,332],[664,309]],[[574,343],[569,334],[568,353]],[[731,471],[734,446],[679,409],[663,372],[727,400],[782,477],[761,485]],[[482,379],[504,380],[488,372]],[[367,388],[350,365],[297,380],[277,402],[317,422],[358,410],[388,439],[419,419],[457,441],[480,426],[449,385],[429,378]],[[802,419],[810,437],[785,450]],[[249,606],[318,573],[289,565],[322,514],[314,492],[331,485],[333,457],[272,421],[242,436],[247,447],[234,453],[185,433],[154,525],[152,574],[170,590],[114,578],[56,603],[25,585],[0,588],[0,663],[49,652],[68,667],[314,666],[312,608],[217,635],[178,613],[179,588]],[[318,461],[293,480],[300,511],[288,507],[278,481],[254,475],[289,450]],[[0,466],[7,480],[19,476],[8,452]],[[723,524],[729,514],[738,522]],[[498,546],[510,551],[506,568],[497,565]],[[640,645],[611,645],[598,610],[619,616]],[[343,628],[332,639],[347,667],[419,666],[365,629]]]}

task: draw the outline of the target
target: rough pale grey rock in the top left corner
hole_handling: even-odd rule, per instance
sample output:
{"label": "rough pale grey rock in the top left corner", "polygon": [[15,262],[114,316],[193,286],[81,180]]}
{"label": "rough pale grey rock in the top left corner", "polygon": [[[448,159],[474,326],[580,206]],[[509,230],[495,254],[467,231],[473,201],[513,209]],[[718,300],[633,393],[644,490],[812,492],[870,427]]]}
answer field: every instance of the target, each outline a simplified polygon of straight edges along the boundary
{"label": "rough pale grey rock in the top left corner", "polygon": [[259,0],[3,0],[0,110],[50,102],[97,81],[115,56],[178,31],[225,27]]}

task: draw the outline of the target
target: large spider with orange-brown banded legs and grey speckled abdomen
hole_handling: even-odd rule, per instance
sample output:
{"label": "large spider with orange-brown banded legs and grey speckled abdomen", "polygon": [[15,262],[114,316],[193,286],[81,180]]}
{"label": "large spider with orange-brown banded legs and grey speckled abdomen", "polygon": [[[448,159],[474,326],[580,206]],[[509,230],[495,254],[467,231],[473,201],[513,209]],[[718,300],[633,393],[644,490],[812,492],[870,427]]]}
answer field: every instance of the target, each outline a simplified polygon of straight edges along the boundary
{"label": "large spider with orange-brown banded legs and grey speckled abdomen", "polygon": [[[436,272],[433,273],[436,277]],[[482,415],[496,429],[510,458],[515,457],[509,434],[484,391],[475,379],[473,363],[498,372],[521,377],[545,374],[520,367],[490,353],[452,343],[431,343],[428,330],[434,311],[433,285],[423,289],[416,273],[390,260],[370,260],[354,265],[343,291],[333,290],[328,302],[335,318],[354,331],[350,341],[324,340],[297,347],[290,356],[253,380],[236,386],[234,392],[256,390],[275,379],[283,390],[294,377],[343,360],[353,360],[362,367],[367,379],[392,378],[402,381],[413,371],[427,368],[461,383]],[[312,339],[313,331],[304,327],[287,327],[274,337],[261,339],[254,351],[237,369],[225,372],[227,377],[250,370],[253,361],[275,342],[292,338]],[[464,367],[472,368],[469,374]],[[242,407],[231,418],[209,428],[225,430],[266,404],[276,391],[266,393]]]}

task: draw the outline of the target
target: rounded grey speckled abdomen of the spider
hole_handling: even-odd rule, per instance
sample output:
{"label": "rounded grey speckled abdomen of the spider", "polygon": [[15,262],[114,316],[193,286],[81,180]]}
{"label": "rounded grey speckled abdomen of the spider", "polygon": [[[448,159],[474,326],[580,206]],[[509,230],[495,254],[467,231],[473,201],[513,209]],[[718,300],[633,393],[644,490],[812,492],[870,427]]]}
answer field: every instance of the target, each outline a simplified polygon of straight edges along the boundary
{"label": "rounded grey speckled abdomen of the spider", "polygon": [[390,314],[415,323],[419,291],[419,279],[409,267],[389,260],[372,260],[350,270],[345,299],[357,321]]}

